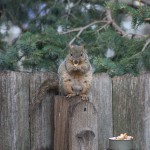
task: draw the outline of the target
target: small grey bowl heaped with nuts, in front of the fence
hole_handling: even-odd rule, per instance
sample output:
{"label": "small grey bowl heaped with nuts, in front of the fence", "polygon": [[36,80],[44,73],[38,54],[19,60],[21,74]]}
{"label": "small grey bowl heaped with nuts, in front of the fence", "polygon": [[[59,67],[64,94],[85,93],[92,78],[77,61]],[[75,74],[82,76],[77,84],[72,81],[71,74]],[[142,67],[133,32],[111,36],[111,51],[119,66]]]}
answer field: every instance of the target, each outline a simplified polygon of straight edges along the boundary
{"label": "small grey bowl heaped with nuts, in front of the fence", "polygon": [[120,134],[117,137],[109,138],[109,149],[111,150],[132,150],[133,137],[127,133]]}

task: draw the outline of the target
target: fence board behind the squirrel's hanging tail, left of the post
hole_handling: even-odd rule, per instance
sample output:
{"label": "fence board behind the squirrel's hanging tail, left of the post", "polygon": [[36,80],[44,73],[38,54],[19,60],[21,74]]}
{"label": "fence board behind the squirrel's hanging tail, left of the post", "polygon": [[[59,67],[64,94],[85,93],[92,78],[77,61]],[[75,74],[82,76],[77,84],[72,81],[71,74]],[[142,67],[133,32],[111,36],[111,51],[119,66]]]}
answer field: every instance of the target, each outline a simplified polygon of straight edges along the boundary
{"label": "fence board behind the squirrel's hanging tail, left of the post", "polygon": [[[31,103],[41,83],[49,73],[34,73],[30,77]],[[53,150],[54,92],[47,93],[41,105],[31,114],[31,150]]]}

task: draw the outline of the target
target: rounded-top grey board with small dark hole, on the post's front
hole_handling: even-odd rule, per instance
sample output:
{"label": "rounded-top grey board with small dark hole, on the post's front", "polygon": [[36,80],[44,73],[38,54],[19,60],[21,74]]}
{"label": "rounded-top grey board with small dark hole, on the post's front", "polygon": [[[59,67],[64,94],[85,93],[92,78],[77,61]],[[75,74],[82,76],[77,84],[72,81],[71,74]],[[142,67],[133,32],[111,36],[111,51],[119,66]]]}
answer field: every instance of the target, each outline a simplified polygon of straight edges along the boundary
{"label": "rounded-top grey board with small dark hole, on the post's front", "polygon": [[98,150],[97,111],[88,101],[82,101],[70,112],[69,150]]}

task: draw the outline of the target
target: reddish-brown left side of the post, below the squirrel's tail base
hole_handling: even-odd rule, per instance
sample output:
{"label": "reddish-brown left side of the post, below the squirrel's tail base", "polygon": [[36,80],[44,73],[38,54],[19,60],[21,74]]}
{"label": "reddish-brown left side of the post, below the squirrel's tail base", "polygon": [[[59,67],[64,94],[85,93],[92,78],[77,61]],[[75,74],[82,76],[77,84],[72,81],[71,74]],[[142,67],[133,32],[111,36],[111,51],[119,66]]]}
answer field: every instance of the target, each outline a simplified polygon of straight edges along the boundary
{"label": "reddish-brown left side of the post, below the squirrel's tail base", "polygon": [[55,97],[54,102],[54,150],[68,149],[68,102],[66,97]]}

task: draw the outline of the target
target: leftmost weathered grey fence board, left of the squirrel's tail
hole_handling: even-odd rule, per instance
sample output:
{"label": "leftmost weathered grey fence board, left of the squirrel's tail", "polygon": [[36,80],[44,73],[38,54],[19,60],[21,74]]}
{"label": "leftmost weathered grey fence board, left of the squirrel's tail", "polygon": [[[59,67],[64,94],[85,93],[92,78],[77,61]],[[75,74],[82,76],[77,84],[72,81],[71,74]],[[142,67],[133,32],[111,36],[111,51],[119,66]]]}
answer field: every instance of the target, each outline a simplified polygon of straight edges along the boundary
{"label": "leftmost weathered grey fence board, left of the squirrel's tail", "polygon": [[0,72],[0,149],[30,150],[29,74]]}

